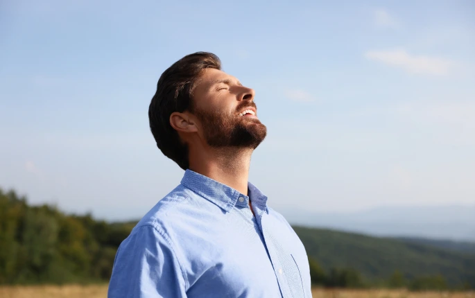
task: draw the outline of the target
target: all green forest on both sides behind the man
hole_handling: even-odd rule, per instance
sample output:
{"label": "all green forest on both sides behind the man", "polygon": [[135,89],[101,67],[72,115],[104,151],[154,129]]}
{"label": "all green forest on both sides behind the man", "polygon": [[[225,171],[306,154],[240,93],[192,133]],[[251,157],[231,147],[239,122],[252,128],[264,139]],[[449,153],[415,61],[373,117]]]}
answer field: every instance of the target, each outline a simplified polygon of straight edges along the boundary
{"label": "all green forest on both sides behind the man", "polygon": [[[135,223],[31,206],[15,191],[0,189],[0,284],[107,282],[117,247]],[[306,247],[315,286],[475,288],[472,243],[294,229]]]}

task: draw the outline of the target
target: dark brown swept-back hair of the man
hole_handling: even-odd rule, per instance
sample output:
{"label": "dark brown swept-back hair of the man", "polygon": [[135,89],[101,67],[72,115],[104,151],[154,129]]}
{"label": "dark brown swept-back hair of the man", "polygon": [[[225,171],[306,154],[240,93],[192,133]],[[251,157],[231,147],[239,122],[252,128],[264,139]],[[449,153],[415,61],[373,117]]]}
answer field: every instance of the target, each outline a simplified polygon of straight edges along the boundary
{"label": "dark brown swept-back hair of the man", "polygon": [[184,56],[166,69],[157,82],[157,92],[148,107],[150,131],[162,153],[180,168],[189,168],[188,146],[170,125],[173,112],[193,112],[193,89],[204,69],[221,69],[213,53],[198,52]]}

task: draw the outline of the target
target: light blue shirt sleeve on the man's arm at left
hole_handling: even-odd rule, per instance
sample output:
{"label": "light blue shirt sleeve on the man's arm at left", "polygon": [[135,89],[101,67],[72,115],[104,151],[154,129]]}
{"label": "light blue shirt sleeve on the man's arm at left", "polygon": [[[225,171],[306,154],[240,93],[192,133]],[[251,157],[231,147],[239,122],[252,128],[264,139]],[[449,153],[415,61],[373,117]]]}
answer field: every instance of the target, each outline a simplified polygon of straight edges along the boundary
{"label": "light blue shirt sleeve on the man's arm at left", "polygon": [[107,297],[187,297],[186,282],[169,238],[137,227],[117,251]]}

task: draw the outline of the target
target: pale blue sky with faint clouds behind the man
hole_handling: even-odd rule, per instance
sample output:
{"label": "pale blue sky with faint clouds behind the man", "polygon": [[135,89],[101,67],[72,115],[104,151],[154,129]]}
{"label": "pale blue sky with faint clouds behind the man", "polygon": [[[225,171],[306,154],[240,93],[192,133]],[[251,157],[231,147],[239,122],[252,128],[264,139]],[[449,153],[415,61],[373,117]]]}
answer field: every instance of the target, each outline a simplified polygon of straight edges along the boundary
{"label": "pale blue sky with faint clouds behind the man", "polygon": [[196,51],[256,91],[250,181],[284,215],[475,204],[469,0],[3,0],[0,188],[143,216],[183,175],[148,105]]}

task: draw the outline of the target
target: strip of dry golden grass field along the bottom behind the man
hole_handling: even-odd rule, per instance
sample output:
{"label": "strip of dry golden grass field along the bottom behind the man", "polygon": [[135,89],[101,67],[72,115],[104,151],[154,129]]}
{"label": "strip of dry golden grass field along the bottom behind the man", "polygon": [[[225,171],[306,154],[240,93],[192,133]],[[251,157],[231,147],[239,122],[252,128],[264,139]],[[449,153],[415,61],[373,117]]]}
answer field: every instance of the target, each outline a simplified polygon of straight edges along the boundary
{"label": "strip of dry golden grass field along the bottom behind the man", "polygon": [[[3,286],[1,298],[101,298],[107,285]],[[408,292],[406,290],[313,290],[313,298],[475,298],[475,292]]]}

